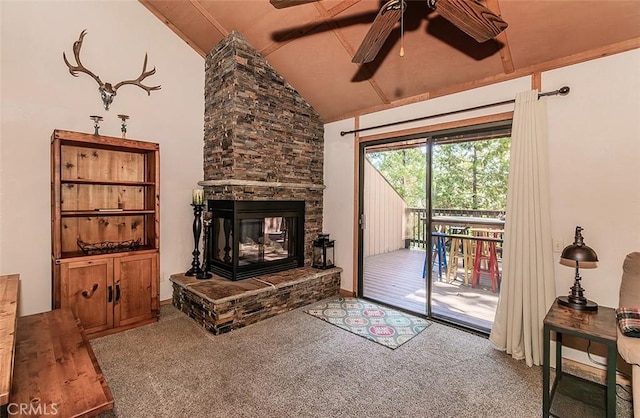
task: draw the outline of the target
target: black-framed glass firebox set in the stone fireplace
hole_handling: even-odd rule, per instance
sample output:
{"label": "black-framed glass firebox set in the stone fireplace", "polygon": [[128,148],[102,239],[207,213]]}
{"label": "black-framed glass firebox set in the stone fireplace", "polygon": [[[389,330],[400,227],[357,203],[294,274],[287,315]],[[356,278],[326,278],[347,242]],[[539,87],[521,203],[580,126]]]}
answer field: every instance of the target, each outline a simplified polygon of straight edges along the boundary
{"label": "black-framed glass firebox set in the stone fireplace", "polygon": [[209,200],[205,268],[231,280],[304,265],[304,201]]}

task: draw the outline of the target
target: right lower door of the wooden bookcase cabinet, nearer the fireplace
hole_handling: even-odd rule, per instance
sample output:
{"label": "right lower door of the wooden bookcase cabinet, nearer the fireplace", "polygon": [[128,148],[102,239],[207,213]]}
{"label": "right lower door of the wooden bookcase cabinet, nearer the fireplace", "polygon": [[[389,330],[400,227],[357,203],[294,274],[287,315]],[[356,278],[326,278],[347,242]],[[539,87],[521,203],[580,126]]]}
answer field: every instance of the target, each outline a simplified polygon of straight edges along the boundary
{"label": "right lower door of the wooden bookcase cabinet, nearer the fireplace", "polygon": [[158,254],[114,258],[114,325],[127,326],[158,313]]}

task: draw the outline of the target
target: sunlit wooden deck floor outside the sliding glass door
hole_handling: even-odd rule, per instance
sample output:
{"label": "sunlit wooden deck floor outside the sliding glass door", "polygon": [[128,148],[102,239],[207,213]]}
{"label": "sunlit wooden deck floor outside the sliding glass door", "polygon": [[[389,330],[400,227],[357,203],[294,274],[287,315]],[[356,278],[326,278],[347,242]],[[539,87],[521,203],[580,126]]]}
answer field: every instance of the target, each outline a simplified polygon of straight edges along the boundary
{"label": "sunlit wooden deck floor outside the sliding glass door", "polygon": [[[425,314],[424,260],[424,251],[404,249],[365,258],[363,296]],[[491,330],[498,294],[491,291],[488,278],[481,274],[480,286],[473,289],[464,285],[462,269],[451,284],[440,281],[437,276],[437,269],[434,269],[432,315],[476,329]]]}

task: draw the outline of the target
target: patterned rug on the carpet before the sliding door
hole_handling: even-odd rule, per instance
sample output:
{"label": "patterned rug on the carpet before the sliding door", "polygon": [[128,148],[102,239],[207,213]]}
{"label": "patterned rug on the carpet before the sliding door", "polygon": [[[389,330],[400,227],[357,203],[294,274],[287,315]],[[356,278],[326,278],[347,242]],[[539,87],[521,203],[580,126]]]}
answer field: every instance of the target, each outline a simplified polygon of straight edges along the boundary
{"label": "patterned rug on the carpet before the sliding door", "polygon": [[391,349],[431,325],[426,319],[357,298],[339,297],[313,305],[305,312]]}

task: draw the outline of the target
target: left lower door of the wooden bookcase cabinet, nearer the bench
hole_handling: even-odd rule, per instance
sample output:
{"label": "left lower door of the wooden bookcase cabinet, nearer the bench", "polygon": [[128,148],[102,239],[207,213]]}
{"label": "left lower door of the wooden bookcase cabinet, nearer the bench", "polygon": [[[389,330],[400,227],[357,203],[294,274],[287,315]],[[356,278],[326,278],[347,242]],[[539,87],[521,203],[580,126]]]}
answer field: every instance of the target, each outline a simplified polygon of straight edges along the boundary
{"label": "left lower door of the wooden bookcase cabinet, nearer the bench", "polygon": [[60,265],[60,307],[71,309],[87,334],[113,327],[112,279],[111,259]]}

